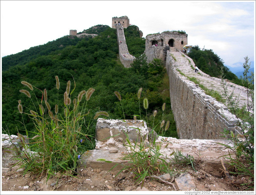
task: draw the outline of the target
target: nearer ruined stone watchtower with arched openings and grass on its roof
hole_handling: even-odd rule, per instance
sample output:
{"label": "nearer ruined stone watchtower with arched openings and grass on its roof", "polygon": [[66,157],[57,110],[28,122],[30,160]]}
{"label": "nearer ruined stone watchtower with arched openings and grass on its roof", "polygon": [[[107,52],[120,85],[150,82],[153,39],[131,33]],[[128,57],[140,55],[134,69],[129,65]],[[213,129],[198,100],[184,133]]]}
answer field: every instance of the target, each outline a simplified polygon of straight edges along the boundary
{"label": "nearer ruined stone watchtower with arched openings and grass on its roof", "polygon": [[147,62],[154,58],[166,61],[166,51],[183,50],[183,46],[188,44],[188,35],[177,31],[162,32],[146,36],[145,54]]}

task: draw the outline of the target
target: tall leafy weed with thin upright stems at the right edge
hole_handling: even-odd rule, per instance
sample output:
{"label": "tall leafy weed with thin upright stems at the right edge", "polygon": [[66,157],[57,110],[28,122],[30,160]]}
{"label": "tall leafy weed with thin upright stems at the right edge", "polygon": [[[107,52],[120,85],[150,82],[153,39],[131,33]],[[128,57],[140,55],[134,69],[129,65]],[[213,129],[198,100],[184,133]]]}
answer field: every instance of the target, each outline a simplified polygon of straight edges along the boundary
{"label": "tall leafy weed with thin upright stems at the right edge", "polygon": [[[254,181],[254,83],[253,78],[254,74],[248,76],[248,70],[250,68],[250,63],[248,57],[246,56],[245,62],[243,64],[244,68],[244,78],[243,82],[245,83],[247,89],[247,104],[242,108],[238,109],[238,98],[234,98],[234,91],[230,94],[227,91],[227,84],[224,80],[224,71],[222,72],[221,84],[223,87],[223,95],[229,103],[230,111],[234,114],[237,123],[236,126],[240,130],[241,134],[234,134],[232,131],[227,131],[224,129],[224,136],[230,140],[233,146],[225,145],[230,151],[231,154],[235,154],[235,158],[231,154],[227,157],[230,161],[229,163],[234,169],[230,171],[233,174],[247,175],[251,178],[252,183],[243,184],[248,185],[250,189]],[[237,111],[240,111],[238,115]],[[240,116],[240,118],[238,118]]]}

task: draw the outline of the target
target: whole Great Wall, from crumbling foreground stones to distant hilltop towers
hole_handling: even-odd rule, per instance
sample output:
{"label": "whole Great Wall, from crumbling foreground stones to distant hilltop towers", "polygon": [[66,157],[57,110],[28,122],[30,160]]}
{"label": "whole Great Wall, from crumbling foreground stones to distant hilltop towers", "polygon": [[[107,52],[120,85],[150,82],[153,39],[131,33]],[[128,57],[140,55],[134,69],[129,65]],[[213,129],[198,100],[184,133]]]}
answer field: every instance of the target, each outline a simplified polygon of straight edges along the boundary
{"label": "whole Great Wall, from crumbling foreground stones to distant hilltop towers", "polygon": [[[116,28],[117,31],[119,59],[124,67],[130,67],[132,61],[135,60],[129,54],[125,42],[123,28],[129,26],[129,19],[128,22],[126,21],[127,19],[127,16],[121,19],[116,17],[112,19],[112,28]],[[71,30],[70,33],[75,33],[73,36],[76,36],[76,31]],[[219,93],[222,91],[220,79],[210,77],[201,71],[195,73],[192,68],[194,67],[193,60],[180,51],[182,44],[187,44],[186,34],[179,36],[176,32],[161,33],[146,37],[145,54],[148,60],[160,58],[166,62],[172,112],[179,136],[179,139],[176,139],[156,135],[156,143],[160,145],[161,152],[166,155],[167,162],[172,160],[170,154],[180,150],[183,154],[199,158],[201,163],[212,169],[222,169],[220,158],[229,154],[229,150],[224,145],[232,147],[232,144],[228,140],[224,140],[221,137],[221,133],[224,128],[239,133],[239,129],[235,126],[236,119],[228,111],[226,105],[206,95],[198,84],[189,80],[188,77],[195,77],[208,89],[216,90]],[[238,97],[239,95],[240,104],[241,106],[244,105],[246,89],[229,82],[227,82],[227,87],[230,92],[234,90],[234,96]],[[136,129],[141,129],[141,131]],[[138,138],[142,138],[148,143],[150,142],[150,137],[148,136],[150,130],[147,128],[146,123],[139,120],[123,121],[98,118],[96,124],[96,147],[94,150],[86,151],[81,155],[77,172],[81,173],[85,167],[110,171],[116,163],[119,165],[125,163],[121,160],[125,152],[127,152],[125,147],[127,144],[124,144],[126,137],[123,131],[125,131],[129,140],[137,141]],[[19,138],[16,135],[2,134],[2,166],[7,170],[10,169],[9,164],[12,163],[14,154],[4,151],[13,150],[12,144],[19,145],[19,142]],[[98,161],[98,159],[102,158],[112,163]],[[119,171],[121,168],[122,166],[117,166],[112,171]],[[190,177],[189,181],[194,183],[196,178]],[[184,190],[179,186],[178,182],[177,186],[180,188],[179,190]],[[195,186],[187,187],[185,190],[195,190]]]}

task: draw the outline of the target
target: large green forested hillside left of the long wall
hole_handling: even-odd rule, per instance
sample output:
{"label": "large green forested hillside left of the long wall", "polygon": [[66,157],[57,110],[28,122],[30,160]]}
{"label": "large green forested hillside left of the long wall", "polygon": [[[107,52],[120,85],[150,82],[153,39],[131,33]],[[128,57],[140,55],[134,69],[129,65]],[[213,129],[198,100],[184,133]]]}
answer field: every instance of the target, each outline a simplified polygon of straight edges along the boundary
{"label": "large green forested hillside left of the long wall", "polygon": [[[96,119],[94,120],[93,117],[98,111],[108,112],[112,119],[124,119],[123,111],[125,119],[132,119],[133,115],[140,115],[141,111],[142,119],[148,119],[151,127],[153,121],[157,124],[162,117],[165,121],[169,120],[170,128],[165,135],[177,137],[170,106],[166,70],[160,60],[147,64],[145,56],[140,56],[145,49],[145,39],[139,37],[137,28],[129,26],[125,29],[129,52],[134,56],[140,56],[135,61],[136,66],[132,68],[124,68],[118,59],[116,29],[102,25],[97,28],[97,32],[100,33],[95,38],[79,39],[65,36],[45,45],[3,57],[2,132],[9,131],[9,134],[16,134],[19,131],[24,134],[23,121],[29,131],[36,131],[31,118],[18,112],[18,100],[21,100],[23,112],[29,113],[29,110],[34,107],[32,100],[37,102],[33,93],[40,101],[42,91],[46,89],[47,101],[54,110],[58,100],[61,104],[63,103],[63,94],[70,80],[71,91],[75,88],[73,98],[76,98],[82,90],[95,89],[86,105],[86,112],[90,110],[90,114],[85,117],[83,131],[95,135]],[[59,90],[56,89],[55,76],[60,80]],[[20,89],[28,90],[21,81],[34,86],[33,91],[30,91],[31,98],[20,93]],[[140,88],[143,88],[143,91],[139,105],[137,92]],[[114,95],[115,91],[122,96],[122,105]],[[145,97],[149,102],[148,116],[142,103]],[[166,109],[163,116],[164,102]],[[153,119],[152,113],[155,109],[158,110],[158,114]],[[101,117],[104,118],[104,116]],[[138,116],[137,119],[139,119]],[[86,125],[89,126],[88,129]]]}

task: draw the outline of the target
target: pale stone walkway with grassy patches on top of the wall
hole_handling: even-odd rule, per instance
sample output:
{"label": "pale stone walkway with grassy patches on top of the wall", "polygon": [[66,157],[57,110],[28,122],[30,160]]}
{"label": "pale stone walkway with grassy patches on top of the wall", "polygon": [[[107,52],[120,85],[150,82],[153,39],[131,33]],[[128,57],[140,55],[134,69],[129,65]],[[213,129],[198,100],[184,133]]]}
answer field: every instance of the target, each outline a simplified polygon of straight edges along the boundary
{"label": "pale stone walkway with grassy patches on top of the wall", "polygon": [[[221,79],[216,77],[210,77],[206,73],[199,70],[197,73],[192,68],[195,66],[195,63],[187,55],[183,54],[180,51],[171,51],[171,55],[176,59],[175,67],[179,69],[186,77],[195,77],[200,84],[205,86],[207,89],[217,91],[218,94],[222,95],[224,98],[223,88],[221,86]],[[192,66],[192,67],[191,67]],[[234,98],[239,99],[239,107],[247,104],[247,89],[240,85],[236,85],[231,82],[227,82],[227,89],[229,94],[234,91]],[[225,99],[225,98],[224,98]],[[227,106],[227,102],[224,103]]]}

